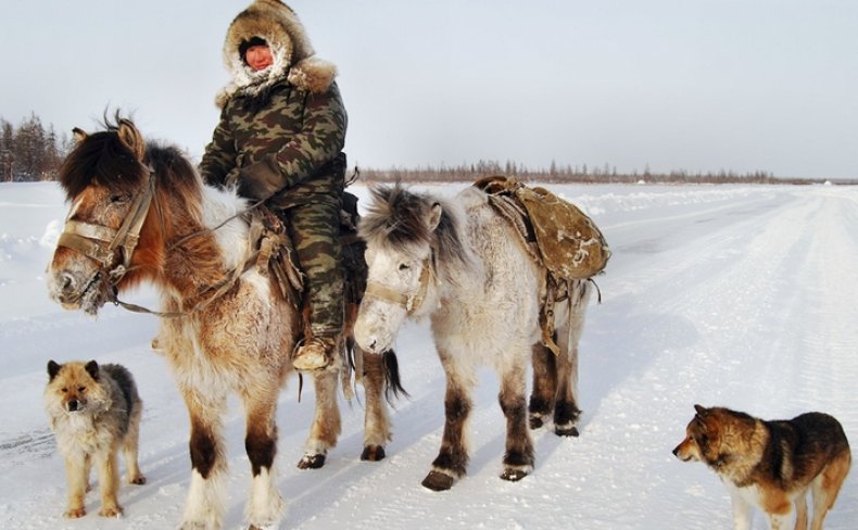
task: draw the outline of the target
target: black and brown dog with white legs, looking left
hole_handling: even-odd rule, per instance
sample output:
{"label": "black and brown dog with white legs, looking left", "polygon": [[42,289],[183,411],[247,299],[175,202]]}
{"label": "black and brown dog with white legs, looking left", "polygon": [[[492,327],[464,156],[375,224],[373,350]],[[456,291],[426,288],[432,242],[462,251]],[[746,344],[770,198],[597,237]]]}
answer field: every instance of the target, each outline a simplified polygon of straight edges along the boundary
{"label": "black and brown dog with white legs, looking left", "polygon": [[673,454],[709,466],[730,491],[736,530],[750,528],[752,506],[785,529],[795,506],[795,529],[807,528],[808,490],[813,496],[810,528],[820,530],[851,465],[841,424],[823,413],[766,421],[729,408],[694,405],[697,414]]}

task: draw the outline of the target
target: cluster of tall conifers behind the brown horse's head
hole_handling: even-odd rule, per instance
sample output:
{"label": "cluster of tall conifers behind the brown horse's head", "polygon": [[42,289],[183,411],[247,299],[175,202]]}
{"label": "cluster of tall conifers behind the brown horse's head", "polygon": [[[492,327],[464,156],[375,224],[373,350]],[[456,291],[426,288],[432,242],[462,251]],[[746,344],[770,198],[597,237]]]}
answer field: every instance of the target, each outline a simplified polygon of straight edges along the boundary
{"label": "cluster of tall conifers behind the brown horse's head", "polygon": [[17,127],[0,116],[0,182],[54,180],[68,148],[35,113]]}

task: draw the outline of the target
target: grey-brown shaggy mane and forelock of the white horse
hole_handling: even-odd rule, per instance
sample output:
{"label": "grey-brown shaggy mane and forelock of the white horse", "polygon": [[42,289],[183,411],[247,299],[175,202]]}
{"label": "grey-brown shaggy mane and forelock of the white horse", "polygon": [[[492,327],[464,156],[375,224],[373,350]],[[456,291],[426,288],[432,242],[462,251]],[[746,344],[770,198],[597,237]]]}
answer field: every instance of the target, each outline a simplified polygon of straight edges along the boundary
{"label": "grey-brown shaggy mane and forelock of the white horse", "polygon": [[[358,227],[362,239],[415,257],[419,249],[429,247],[441,267],[470,263],[462,241],[460,215],[451,203],[428,193],[413,193],[400,184],[370,191],[374,200]],[[441,206],[441,219],[431,229],[428,220],[436,205]]]}

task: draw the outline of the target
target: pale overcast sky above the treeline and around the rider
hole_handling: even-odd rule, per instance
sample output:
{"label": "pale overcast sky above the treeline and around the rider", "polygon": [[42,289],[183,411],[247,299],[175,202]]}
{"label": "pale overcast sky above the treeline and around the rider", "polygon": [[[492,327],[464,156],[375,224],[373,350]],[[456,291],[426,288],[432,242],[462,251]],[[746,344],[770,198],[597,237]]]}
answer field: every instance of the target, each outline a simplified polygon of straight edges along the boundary
{"label": "pale overcast sky above the treeline and around the rider", "polygon": [[[350,163],[858,177],[854,0],[293,0]],[[0,117],[105,108],[199,160],[247,1],[0,0]]]}

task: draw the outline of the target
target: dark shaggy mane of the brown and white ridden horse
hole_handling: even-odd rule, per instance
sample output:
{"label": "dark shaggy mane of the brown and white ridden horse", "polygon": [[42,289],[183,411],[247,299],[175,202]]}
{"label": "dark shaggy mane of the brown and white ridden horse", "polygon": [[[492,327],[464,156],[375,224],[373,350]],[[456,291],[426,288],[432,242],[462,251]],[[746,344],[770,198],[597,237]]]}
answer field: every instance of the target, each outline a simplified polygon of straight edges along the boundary
{"label": "dark shaggy mane of the brown and white ridden horse", "polygon": [[[105,117],[102,126],[104,130],[91,135],[75,129],[75,134],[83,138],[66,156],[59,175],[67,199],[72,200],[93,184],[119,193],[137,193],[150,169],[159,179],[159,188],[184,197],[201,195],[202,180],[178,148],[157,142],[144,143],[135,125],[118,113],[114,122]],[[141,149],[146,146],[142,163],[121,131],[130,134]]]}

